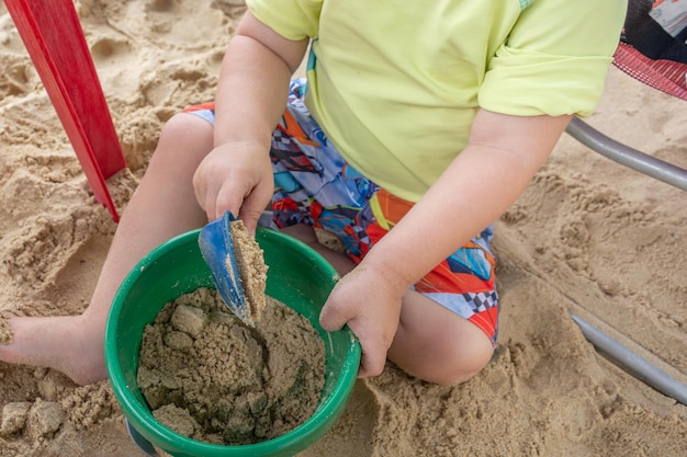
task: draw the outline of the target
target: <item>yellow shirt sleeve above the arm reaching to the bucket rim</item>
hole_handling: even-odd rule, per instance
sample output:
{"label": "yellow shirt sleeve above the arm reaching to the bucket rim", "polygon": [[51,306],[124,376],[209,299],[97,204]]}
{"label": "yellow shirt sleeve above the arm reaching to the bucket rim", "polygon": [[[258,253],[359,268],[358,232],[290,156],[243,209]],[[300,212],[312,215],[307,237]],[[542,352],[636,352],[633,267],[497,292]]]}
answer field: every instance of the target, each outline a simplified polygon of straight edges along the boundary
{"label": "yellow shirt sleeve above the arm reaching to the bucket rim", "polygon": [[627,0],[534,0],[491,59],[480,106],[513,115],[589,115],[604,92]]}

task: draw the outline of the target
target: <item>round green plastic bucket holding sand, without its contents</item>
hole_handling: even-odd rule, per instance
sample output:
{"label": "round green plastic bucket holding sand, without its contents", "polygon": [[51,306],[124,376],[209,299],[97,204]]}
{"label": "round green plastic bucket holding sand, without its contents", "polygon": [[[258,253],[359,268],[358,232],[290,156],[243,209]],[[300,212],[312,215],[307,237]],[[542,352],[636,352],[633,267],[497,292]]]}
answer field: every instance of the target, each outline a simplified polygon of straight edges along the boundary
{"label": "round green plastic bucket holding sand, without its contents", "polygon": [[319,310],[336,283],[336,271],[312,248],[275,230],[256,239],[269,266],[267,293],[307,318],[326,349],[325,387],[315,413],[291,432],[262,443],[223,446],[180,435],[159,423],[138,389],[136,372],[143,330],[159,310],[200,287],[214,287],[198,247],[200,230],[153,250],[122,283],[105,328],[108,375],[124,416],[139,435],[174,457],[293,456],[319,439],[339,418],[356,382],[360,344],[345,328],[327,333]]}

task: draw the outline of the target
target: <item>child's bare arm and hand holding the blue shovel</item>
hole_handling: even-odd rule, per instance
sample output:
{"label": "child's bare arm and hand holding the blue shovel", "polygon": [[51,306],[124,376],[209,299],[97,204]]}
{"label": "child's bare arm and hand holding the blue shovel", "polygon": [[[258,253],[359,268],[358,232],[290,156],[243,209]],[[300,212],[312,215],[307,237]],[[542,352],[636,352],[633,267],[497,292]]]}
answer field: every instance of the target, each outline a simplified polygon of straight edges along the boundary
{"label": "child's bare arm and hand holding the blue shovel", "polygon": [[239,23],[222,64],[214,149],[193,179],[210,220],[228,209],[255,230],[273,192],[271,134],[307,43],[282,37],[250,12]]}

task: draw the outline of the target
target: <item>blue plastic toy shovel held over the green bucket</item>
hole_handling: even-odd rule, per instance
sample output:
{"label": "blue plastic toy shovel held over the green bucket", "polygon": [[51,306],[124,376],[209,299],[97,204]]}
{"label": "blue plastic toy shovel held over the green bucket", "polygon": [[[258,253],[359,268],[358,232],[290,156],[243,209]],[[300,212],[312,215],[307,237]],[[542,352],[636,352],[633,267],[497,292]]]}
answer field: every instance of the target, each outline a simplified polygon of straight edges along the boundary
{"label": "blue plastic toy shovel held over the green bucket", "polygon": [[234,242],[229,229],[229,222],[233,220],[236,220],[234,215],[225,212],[224,217],[203,227],[198,238],[198,244],[215,279],[222,299],[241,321],[248,325],[254,325],[234,253]]}

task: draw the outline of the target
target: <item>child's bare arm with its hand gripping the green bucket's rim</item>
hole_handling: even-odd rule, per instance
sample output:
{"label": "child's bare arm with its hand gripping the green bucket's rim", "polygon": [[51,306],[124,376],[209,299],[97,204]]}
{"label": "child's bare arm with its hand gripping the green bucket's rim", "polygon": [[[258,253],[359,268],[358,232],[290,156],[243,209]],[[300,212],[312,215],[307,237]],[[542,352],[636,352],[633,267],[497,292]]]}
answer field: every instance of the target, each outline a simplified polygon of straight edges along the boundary
{"label": "child's bare arm with its hand gripping the green bucket's rim", "polygon": [[360,339],[361,376],[383,369],[406,290],[498,219],[547,160],[568,121],[481,111],[469,146],[337,285],[320,322],[327,330],[348,323]]}

